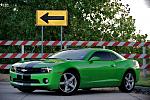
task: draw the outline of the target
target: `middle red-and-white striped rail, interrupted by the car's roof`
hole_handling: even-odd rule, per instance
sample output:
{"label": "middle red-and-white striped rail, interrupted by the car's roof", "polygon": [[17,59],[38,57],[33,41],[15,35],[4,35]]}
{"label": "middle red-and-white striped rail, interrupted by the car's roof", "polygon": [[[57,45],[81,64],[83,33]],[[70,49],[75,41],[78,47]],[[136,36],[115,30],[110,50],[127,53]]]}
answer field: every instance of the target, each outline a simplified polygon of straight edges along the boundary
{"label": "middle red-and-white striped rail, interrupted by the car's roof", "polygon": [[[0,53],[0,58],[47,58],[52,53]],[[150,54],[121,54],[125,58],[150,58]]]}

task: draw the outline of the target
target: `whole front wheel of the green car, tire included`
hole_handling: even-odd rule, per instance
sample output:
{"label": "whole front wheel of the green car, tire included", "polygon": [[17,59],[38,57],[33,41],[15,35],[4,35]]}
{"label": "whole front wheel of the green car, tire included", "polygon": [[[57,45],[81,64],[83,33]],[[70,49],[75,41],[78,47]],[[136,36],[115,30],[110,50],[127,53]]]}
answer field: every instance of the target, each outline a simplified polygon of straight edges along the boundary
{"label": "whole front wheel of the green car, tire included", "polygon": [[59,92],[62,95],[73,95],[79,88],[79,77],[76,73],[65,72],[59,82]]}

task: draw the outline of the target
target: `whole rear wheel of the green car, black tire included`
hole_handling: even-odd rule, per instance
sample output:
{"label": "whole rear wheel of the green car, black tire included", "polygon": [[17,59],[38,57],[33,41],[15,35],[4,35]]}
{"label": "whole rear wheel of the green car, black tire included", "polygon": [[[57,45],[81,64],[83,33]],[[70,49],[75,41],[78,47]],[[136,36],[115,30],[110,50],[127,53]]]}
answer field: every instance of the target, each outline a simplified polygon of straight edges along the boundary
{"label": "whole rear wheel of the green car, black tire included", "polygon": [[134,89],[135,86],[135,75],[133,72],[128,71],[124,74],[124,77],[122,79],[122,83],[119,86],[120,91],[122,92],[131,92]]}

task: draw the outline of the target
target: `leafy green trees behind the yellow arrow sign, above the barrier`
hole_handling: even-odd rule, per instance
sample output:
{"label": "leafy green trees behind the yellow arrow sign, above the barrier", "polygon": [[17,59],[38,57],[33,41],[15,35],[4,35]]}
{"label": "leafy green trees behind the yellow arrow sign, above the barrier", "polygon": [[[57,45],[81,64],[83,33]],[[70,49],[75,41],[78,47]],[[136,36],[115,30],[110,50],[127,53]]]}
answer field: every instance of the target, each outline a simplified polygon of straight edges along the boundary
{"label": "leafy green trees behind the yellow arrow sign, above the barrier", "polygon": [[[0,39],[40,40],[40,27],[35,26],[35,13],[39,9],[68,10],[69,24],[64,27],[65,40],[146,39],[146,35],[134,34],[130,8],[118,0],[2,0],[0,7]],[[45,27],[44,39],[59,40],[59,33],[59,27]]]}

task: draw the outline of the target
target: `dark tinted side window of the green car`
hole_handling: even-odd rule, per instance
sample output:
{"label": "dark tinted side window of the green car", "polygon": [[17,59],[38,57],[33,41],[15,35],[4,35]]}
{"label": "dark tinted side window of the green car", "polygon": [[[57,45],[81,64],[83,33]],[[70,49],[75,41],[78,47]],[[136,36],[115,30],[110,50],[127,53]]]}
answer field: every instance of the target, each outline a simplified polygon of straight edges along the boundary
{"label": "dark tinted side window of the green car", "polygon": [[112,60],[117,60],[119,59],[118,56],[116,56],[115,54],[111,53],[111,52],[105,52],[105,51],[99,51],[99,52],[95,52],[92,57],[100,57],[100,59],[104,60],[104,61],[112,61]]}

